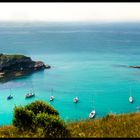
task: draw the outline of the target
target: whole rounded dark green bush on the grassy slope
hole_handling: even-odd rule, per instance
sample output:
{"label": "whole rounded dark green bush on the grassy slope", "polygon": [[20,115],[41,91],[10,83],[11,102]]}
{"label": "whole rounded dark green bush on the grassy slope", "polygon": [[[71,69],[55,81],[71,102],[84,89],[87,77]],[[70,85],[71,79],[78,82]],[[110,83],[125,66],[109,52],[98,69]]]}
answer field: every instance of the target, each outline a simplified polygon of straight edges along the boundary
{"label": "whole rounded dark green bush on the grassy slope", "polygon": [[59,113],[43,101],[14,108],[13,125],[20,131],[29,131],[37,137],[68,137],[70,135]]}

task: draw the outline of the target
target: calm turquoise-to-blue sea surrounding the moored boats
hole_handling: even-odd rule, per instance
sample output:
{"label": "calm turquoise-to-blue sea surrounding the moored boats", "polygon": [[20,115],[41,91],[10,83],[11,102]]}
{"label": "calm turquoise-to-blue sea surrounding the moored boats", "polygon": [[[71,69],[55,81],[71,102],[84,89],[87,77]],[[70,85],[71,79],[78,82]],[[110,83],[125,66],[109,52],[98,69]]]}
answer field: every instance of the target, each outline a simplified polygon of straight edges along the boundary
{"label": "calm turquoise-to-blue sea surrounding the moored boats", "polygon": [[[140,24],[0,23],[0,52],[20,53],[52,66],[0,84],[0,124],[11,124],[13,108],[35,100],[54,106],[65,121],[136,112],[140,105]],[[14,96],[7,101],[11,92]],[[131,95],[134,103],[130,104]],[[36,96],[25,99],[30,89]],[[53,89],[54,102],[49,102]],[[78,104],[73,98],[79,97]]]}

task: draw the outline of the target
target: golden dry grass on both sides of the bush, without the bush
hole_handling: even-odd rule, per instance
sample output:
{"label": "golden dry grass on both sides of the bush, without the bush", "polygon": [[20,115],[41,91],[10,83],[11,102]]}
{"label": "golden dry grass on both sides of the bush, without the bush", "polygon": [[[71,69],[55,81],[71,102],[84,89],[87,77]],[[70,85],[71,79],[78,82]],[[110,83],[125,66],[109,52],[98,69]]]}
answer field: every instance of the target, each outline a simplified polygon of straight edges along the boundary
{"label": "golden dry grass on both sides of the bush, without the bush", "polygon": [[[71,137],[140,137],[140,113],[109,114],[100,119],[67,123]],[[32,132],[18,131],[13,125],[0,127],[0,138],[40,137]]]}

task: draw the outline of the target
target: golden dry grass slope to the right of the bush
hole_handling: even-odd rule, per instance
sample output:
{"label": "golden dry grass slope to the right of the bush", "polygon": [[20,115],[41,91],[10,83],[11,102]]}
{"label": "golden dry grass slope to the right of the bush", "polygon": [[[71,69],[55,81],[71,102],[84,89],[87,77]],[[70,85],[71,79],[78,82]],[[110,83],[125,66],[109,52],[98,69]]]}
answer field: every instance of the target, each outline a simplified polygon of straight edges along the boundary
{"label": "golden dry grass slope to the right of the bush", "polygon": [[140,137],[140,113],[113,115],[67,124],[72,137]]}

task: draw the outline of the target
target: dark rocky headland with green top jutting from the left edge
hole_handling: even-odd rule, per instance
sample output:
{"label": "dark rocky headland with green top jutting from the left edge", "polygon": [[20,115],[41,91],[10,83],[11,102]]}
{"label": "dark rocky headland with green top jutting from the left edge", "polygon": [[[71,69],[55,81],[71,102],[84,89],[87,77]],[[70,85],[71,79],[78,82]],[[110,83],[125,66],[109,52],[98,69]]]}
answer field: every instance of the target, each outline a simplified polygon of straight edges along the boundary
{"label": "dark rocky headland with green top jutting from the left edge", "polygon": [[33,61],[24,55],[0,54],[0,82],[49,68],[51,67],[42,61]]}

